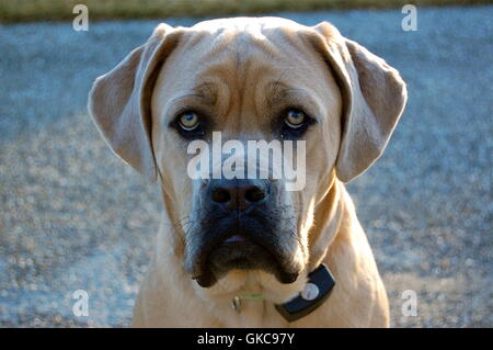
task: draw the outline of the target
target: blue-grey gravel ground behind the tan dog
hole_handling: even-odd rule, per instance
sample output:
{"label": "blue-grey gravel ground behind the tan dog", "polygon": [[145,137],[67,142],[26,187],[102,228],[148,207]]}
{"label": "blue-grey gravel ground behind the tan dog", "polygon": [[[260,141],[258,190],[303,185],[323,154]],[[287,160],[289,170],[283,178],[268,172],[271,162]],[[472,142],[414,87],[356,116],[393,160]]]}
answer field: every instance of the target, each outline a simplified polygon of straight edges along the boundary
{"label": "blue-grey gravel ground behind the tan dog", "polygon": [[[279,15],[333,22],[408,82],[387,153],[348,187],[392,325],[492,327],[493,7],[420,9],[417,32],[398,10]],[[161,203],[106,148],[85,102],[157,23],[0,25],[1,326],[129,325]],[[89,317],[72,314],[76,290]],[[417,316],[402,316],[405,290]]]}

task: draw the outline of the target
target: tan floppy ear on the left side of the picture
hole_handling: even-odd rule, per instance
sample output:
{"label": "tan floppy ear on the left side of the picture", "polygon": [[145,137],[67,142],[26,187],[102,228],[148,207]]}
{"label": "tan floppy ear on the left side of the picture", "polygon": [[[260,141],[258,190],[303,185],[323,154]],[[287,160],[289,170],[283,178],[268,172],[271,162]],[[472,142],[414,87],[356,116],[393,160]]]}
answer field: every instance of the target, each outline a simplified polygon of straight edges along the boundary
{"label": "tan floppy ear on the left side of the picture", "polygon": [[89,112],[112,150],[151,181],[157,167],[151,144],[150,99],[157,72],[176,46],[173,29],[160,24],[146,44],[99,77],[89,93]]}

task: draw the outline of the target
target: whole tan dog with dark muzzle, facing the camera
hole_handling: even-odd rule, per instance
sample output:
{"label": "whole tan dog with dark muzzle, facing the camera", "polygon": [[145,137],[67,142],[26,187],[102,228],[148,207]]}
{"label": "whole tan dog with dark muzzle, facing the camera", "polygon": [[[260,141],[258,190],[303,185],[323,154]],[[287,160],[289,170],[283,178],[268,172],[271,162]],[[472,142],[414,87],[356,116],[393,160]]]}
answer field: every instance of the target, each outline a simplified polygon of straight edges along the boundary
{"label": "whole tan dog with dark muzzle, facing the camera", "polygon": [[[386,290],[344,182],[381,155],[405,100],[395,69],[325,22],[159,25],[95,81],[89,102],[114,153],[161,184],[134,325],[387,327]],[[187,145],[217,131],[223,140],[306,140],[305,188],[191,179]],[[288,323],[275,304],[296,297],[322,262],[332,293]],[[243,293],[263,300],[237,312],[230,302]]]}

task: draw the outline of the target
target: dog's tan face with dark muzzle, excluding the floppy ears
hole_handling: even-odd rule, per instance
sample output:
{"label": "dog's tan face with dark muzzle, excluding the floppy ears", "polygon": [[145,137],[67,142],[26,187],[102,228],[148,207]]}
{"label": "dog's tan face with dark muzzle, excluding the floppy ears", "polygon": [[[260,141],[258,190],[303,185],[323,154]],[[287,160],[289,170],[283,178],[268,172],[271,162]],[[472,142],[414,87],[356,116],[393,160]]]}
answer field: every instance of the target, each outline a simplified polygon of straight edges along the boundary
{"label": "dog's tan face with dark muzzle, excluding the floppy ears", "polygon": [[[291,26],[262,24],[211,21],[192,27],[154,84],[157,165],[164,187],[183,205],[177,215],[185,268],[202,286],[233,269],[264,270],[282,283],[294,282],[308,261],[310,204],[321,182],[326,187],[339,149],[341,95],[331,72],[301,37],[287,43]],[[234,139],[244,146],[305,140],[303,189],[287,191],[283,178],[213,179],[225,161],[210,167],[206,179],[191,179],[187,145],[199,138],[211,149],[213,132],[221,133],[222,144]]]}

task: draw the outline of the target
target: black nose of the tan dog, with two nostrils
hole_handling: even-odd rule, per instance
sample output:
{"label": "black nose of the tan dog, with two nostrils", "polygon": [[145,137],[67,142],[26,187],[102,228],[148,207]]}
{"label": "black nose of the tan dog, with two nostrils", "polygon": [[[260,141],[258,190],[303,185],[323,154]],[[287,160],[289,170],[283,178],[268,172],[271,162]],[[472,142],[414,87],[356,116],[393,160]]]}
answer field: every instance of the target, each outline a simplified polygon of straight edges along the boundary
{"label": "black nose of the tan dog, with two nostrils", "polygon": [[266,182],[243,179],[211,180],[210,200],[229,211],[245,211],[268,195]]}

